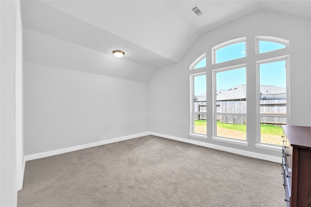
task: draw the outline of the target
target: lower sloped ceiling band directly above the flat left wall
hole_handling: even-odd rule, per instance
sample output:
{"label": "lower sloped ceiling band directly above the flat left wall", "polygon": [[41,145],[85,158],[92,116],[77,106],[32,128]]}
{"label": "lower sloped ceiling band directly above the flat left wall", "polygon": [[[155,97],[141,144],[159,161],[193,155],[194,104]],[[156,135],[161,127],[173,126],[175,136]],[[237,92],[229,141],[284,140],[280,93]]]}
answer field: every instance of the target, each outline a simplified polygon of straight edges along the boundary
{"label": "lower sloped ceiling band directly above the flat left wall", "polygon": [[[50,29],[53,30],[53,27]],[[66,33],[66,31],[59,31],[59,33],[62,32]],[[84,38],[87,39],[87,37]],[[25,62],[29,63],[145,83],[149,82],[155,71],[150,66],[127,60],[126,55],[124,58],[116,58],[112,53],[108,54],[84,47],[67,40],[27,29],[27,27],[23,28],[23,39],[24,59]],[[103,45],[102,47],[105,46]],[[115,47],[119,48],[120,46]],[[125,52],[126,54],[128,53],[127,51]]]}

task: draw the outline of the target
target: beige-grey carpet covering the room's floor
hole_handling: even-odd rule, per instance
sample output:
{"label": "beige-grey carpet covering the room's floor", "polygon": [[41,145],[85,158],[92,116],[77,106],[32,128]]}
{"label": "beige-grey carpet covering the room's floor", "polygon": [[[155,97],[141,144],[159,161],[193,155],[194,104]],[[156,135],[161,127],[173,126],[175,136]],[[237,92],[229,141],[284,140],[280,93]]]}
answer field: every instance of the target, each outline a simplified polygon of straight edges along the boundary
{"label": "beige-grey carpet covering the room's floor", "polygon": [[146,136],[26,162],[17,205],[285,207],[277,163]]}

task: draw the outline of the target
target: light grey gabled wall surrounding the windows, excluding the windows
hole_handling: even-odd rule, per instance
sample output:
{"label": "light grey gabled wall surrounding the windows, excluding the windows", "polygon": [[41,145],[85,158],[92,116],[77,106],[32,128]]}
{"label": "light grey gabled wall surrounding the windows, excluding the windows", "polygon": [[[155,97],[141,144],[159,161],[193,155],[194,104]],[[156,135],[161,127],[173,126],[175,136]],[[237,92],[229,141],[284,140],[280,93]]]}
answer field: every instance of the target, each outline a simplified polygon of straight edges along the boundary
{"label": "light grey gabled wall surrounding the windows, excluding the windows", "polygon": [[[247,37],[247,78],[254,80],[248,82],[247,97],[247,136],[249,146],[233,145],[213,141],[212,113],[207,113],[207,139],[191,138],[199,141],[234,147],[240,150],[279,156],[279,152],[259,149],[256,144],[256,60],[268,58],[269,55],[280,56],[290,54],[290,110],[292,125],[311,125],[311,22],[310,19],[300,18],[270,11],[260,11],[238,19],[225,26],[201,35],[185,54],[182,60],[172,66],[157,69],[149,83],[149,108],[150,131],[175,136],[190,138],[190,64],[204,52],[207,53],[207,67],[196,69],[197,72],[207,71],[207,94],[212,93],[211,48],[225,41]],[[255,55],[255,36],[276,36],[290,41],[290,47],[270,53]],[[232,61],[234,65],[242,64],[245,58]],[[217,64],[217,67],[227,63]],[[193,72],[193,71],[192,71]],[[207,98],[207,105],[212,105],[211,97]],[[253,105],[253,106],[251,106]],[[251,107],[249,107],[251,106]],[[255,110],[254,110],[255,108]],[[249,110],[251,109],[251,110]]]}

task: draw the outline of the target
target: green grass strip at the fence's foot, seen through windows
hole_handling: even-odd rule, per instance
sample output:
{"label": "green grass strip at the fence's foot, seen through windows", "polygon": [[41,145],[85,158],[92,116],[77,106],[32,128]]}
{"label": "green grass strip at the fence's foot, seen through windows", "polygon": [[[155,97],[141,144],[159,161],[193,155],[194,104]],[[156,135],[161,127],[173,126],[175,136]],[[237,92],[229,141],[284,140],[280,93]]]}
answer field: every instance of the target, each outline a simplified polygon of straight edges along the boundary
{"label": "green grass strip at the fence's foot, seen through windows", "polygon": [[[194,121],[194,125],[195,126],[206,126],[206,120]],[[217,126],[221,128],[225,128],[225,129],[246,132],[246,126],[242,124],[230,124],[230,123],[223,123],[223,122],[217,121]],[[279,136],[279,135],[282,135],[282,128],[278,126],[273,126],[273,125],[261,124],[260,133]]]}

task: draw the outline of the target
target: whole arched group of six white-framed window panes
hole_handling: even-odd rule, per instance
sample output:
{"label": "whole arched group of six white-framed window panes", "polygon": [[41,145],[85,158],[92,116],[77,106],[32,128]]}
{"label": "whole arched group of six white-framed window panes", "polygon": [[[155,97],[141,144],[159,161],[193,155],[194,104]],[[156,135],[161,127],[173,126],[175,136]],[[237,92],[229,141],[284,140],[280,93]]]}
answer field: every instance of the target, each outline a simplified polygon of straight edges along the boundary
{"label": "whole arched group of six white-framed window panes", "polygon": [[[255,38],[256,44],[248,44],[256,50],[246,52],[246,37],[237,38],[213,47],[211,63],[204,53],[190,65],[198,69],[190,71],[190,136],[280,149],[280,125],[290,122],[289,55],[282,50],[289,47],[289,40]],[[271,55],[257,55],[264,52]],[[231,61],[239,58],[243,59]]]}

